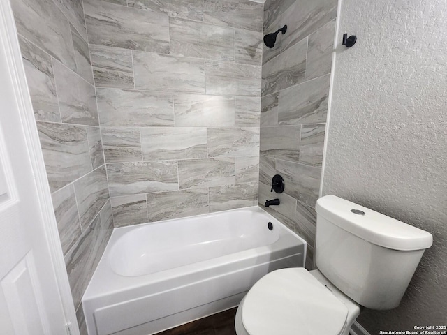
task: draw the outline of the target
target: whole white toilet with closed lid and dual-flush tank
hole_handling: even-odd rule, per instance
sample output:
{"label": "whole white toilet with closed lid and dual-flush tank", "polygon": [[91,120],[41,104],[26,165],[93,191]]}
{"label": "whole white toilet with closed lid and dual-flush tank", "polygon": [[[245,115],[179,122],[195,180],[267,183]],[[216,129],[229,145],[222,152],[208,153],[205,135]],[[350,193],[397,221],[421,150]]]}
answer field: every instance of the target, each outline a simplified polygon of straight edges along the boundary
{"label": "whole white toilet with closed lid and dual-flush tank", "polygon": [[348,335],[360,306],[395,308],[432,234],[353,202],[316,202],[316,266],[261,278],[236,313],[237,335]]}

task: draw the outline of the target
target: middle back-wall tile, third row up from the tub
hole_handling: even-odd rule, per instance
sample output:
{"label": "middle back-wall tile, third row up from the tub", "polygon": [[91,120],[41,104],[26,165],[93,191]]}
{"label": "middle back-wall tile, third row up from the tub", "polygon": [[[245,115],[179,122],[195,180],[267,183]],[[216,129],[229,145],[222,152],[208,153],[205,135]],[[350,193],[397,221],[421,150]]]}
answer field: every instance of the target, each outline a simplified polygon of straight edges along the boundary
{"label": "middle back-wall tile, third row up from the tub", "polygon": [[207,157],[207,128],[141,128],[143,161]]}

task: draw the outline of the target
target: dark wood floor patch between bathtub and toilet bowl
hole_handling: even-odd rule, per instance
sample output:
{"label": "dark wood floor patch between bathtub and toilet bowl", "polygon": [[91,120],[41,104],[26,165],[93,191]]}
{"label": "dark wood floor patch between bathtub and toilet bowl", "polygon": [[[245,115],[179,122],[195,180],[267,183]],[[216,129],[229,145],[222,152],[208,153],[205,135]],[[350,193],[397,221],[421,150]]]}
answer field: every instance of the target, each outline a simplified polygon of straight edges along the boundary
{"label": "dark wood floor patch between bathtub and toilet bowl", "polygon": [[237,308],[231,308],[156,335],[236,335],[236,310]]}

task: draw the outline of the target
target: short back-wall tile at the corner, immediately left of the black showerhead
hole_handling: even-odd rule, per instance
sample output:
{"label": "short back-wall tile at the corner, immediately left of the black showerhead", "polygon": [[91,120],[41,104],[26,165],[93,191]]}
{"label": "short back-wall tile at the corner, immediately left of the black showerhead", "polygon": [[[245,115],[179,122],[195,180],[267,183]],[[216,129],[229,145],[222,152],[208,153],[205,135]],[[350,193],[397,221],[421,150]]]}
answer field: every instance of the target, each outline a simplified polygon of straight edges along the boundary
{"label": "short back-wall tile at the corner, immediately left of the black showerhead", "polygon": [[235,61],[240,64],[261,65],[263,59],[263,33],[236,29]]}

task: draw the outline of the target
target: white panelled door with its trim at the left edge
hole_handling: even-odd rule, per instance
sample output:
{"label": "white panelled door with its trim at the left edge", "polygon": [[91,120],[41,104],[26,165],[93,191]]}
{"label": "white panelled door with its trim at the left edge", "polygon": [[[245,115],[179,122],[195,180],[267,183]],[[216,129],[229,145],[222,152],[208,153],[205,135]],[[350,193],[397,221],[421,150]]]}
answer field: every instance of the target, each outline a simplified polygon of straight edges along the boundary
{"label": "white panelled door with its trim at the left edge", "polygon": [[10,5],[0,0],[0,334],[64,335],[69,322],[43,214],[50,191],[36,172],[38,137],[18,57]]}

